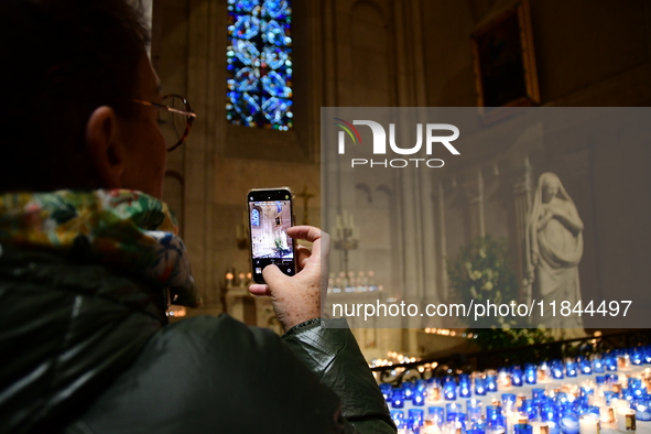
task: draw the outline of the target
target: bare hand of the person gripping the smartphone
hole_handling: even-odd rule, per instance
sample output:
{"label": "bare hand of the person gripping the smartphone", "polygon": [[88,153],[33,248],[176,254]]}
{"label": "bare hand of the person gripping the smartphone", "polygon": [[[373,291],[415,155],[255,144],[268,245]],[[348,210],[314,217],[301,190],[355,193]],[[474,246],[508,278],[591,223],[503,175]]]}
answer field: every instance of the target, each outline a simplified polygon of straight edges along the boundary
{"label": "bare hand of the person gripping the smartphone", "polygon": [[322,294],[327,287],[327,259],[330,250],[330,237],[313,226],[294,226],[287,229],[294,239],[312,242],[312,251],[296,246],[296,275],[287,276],[275,265],[267,265],[262,276],[267,284],[252,284],[249,291],[253,295],[269,295],[275,316],[284,330],[321,317]]}

